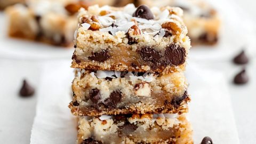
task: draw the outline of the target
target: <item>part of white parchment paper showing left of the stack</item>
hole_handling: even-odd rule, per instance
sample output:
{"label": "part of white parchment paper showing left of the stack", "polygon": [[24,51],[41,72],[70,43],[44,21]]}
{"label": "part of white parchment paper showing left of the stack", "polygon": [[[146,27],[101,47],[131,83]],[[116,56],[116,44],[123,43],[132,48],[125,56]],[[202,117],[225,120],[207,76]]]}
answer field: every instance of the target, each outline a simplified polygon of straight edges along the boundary
{"label": "part of white parchment paper showing left of the stack", "polygon": [[54,61],[42,65],[30,143],[75,143],[77,121],[68,108],[71,101],[70,84],[74,78],[73,69],[67,67],[69,64],[70,61]]}

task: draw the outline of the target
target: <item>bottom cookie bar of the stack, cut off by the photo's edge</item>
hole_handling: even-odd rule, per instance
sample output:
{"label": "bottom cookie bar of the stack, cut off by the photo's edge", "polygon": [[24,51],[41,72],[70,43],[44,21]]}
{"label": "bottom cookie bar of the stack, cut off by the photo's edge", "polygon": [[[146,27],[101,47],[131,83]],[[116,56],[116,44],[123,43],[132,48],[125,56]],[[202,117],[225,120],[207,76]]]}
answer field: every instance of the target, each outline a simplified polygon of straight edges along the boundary
{"label": "bottom cookie bar of the stack, cut off by the photo's edge", "polygon": [[77,144],[193,143],[186,115],[133,114],[79,118]]}

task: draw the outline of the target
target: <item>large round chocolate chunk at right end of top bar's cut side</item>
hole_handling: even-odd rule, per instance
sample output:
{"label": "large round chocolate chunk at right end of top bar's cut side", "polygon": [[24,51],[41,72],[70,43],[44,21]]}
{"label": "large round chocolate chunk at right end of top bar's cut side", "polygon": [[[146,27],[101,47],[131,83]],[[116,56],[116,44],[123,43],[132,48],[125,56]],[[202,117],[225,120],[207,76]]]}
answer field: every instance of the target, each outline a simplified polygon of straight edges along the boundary
{"label": "large round chocolate chunk at right end of top bar's cut side", "polygon": [[185,62],[186,50],[183,47],[171,44],[165,50],[165,61],[167,65],[181,65]]}

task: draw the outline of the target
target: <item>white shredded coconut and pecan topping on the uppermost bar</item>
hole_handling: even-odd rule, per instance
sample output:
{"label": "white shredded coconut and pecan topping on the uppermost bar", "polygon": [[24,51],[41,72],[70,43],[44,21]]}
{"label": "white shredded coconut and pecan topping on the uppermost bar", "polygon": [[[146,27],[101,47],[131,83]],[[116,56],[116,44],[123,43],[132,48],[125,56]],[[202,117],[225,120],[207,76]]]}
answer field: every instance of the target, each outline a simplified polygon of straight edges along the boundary
{"label": "white shredded coconut and pecan topping on the uppermost bar", "polygon": [[[133,13],[136,10],[137,8],[133,4],[128,4],[119,9],[110,6],[99,7],[98,5],[94,5],[90,6],[87,11],[81,9],[78,18],[80,23],[90,23],[91,26],[98,25],[100,28],[97,30],[109,32],[114,36],[118,31],[127,33],[132,28],[141,31],[142,35],[150,35],[158,39],[164,36],[165,29],[162,28],[162,25],[166,22],[176,23],[176,25],[184,29],[184,31],[179,31],[179,33],[187,33],[183,22],[179,18],[182,16],[182,10],[178,7],[166,7],[164,10],[153,7],[151,12],[154,14],[154,19],[149,20],[133,17]],[[175,11],[176,13],[170,13],[170,11]],[[92,17],[96,17],[97,20],[92,20]],[[83,21],[84,18],[87,18],[87,21]],[[137,27],[133,27],[134,25]]]}

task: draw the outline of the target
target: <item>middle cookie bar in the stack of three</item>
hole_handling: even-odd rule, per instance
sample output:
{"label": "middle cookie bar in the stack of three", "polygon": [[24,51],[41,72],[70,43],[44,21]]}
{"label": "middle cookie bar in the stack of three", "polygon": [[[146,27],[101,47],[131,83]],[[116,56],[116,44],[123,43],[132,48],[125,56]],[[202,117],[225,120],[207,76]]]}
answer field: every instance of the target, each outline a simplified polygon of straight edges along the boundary
{"label": "middle cookie bar in the stack of three", "polygon": [[82,70],[77,75],[69,105],[76,116],[188,111],[190,97],[183,73]]}

